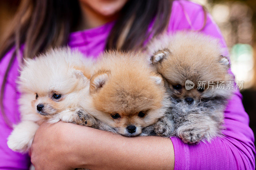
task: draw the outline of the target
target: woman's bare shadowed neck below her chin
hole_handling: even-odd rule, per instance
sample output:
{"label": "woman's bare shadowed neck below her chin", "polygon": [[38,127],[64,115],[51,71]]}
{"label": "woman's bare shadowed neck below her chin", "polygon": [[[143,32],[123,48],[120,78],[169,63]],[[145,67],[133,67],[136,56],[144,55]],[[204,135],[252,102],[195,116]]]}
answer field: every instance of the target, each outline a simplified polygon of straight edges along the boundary
{"label": "woman's bare shadowed neck below her chin", "polygon": [[80,3],[81,7],[81,20],[78,23],[75,31],[94,28],[103,25],[107,22],[116,20],[118,13],[111,16],[103,16],[94,11],[86,4]]}

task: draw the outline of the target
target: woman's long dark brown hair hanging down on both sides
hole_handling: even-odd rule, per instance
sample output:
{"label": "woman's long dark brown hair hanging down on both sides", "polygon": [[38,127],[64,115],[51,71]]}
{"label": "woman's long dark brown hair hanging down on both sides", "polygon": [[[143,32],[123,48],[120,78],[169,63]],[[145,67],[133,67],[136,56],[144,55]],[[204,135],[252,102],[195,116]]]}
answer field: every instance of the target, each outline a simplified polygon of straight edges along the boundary
{"label": "woman's long dark brown hair hanging down on both sides", "polygon": [[[172,0],[129,0],[120,11],[110,32],[106,49],[130,50],[143,46],[150,35],[162,33],[168,26]],[[8,33],[0,42],[0,62],[12,48],[15,52],[5,70],[0,108],[6,124],[12,127],[4,112],[4,90],[15,57],[24,46],[23,58],[34,58],[49,48],[65,46],[69,33],[81,17],[77,0],[22,0]],[[152,29],[148,32],[149,26]]]}

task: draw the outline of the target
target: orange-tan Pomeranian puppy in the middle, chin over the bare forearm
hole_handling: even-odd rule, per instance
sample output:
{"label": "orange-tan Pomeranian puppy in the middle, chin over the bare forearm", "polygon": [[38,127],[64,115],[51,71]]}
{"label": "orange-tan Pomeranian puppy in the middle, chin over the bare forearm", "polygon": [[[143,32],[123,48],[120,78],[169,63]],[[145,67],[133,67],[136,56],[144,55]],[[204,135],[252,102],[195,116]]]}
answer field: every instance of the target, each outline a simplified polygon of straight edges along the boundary
{"label": "orange-tan Pomeranian puppy in the middle, chin over the bare forearm", "polygon": [[105,52],[90,79],[90,98],[81,106],[93,106],[88,112],[96,120],[126,137],[141,135],[170,107],[162,77],[140,52]]}

